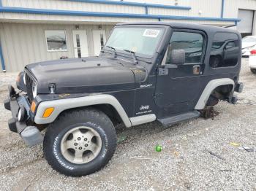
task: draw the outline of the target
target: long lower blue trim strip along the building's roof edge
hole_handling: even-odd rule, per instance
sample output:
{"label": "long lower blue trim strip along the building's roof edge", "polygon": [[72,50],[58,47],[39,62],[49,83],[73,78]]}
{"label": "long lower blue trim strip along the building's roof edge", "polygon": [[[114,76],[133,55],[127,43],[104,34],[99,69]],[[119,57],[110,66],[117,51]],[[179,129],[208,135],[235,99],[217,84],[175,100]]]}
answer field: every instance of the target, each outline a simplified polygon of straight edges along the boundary
{"label": "long lower blue trim strip along the building's roof edge", "polygon": [[219,18],[219,17],[187,17],[173,15],[146,15],[116,12],[83,12],[53,9],[31,9],[20,7],[0,7],[0,12],[27,13],[39,15],[72,15],[72,16],[92,16],[92,17],[130,17],[130,18],[153,18],[153,19],[173,19],[173,20],[210,20],[210,21],[240,21],[238,18]]}

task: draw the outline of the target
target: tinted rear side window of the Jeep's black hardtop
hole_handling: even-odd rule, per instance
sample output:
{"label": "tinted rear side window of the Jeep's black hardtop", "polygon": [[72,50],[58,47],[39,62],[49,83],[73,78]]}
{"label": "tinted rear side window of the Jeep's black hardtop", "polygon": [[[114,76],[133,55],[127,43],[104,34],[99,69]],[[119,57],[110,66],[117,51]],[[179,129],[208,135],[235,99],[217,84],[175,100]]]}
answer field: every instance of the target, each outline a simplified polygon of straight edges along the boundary
{"label": "tinted rear side window of the Jeep's black hardtop", "polygon": [[238,63],[239,41],[236,34],[217,33],[211,45],[211,68],[236,66]]}

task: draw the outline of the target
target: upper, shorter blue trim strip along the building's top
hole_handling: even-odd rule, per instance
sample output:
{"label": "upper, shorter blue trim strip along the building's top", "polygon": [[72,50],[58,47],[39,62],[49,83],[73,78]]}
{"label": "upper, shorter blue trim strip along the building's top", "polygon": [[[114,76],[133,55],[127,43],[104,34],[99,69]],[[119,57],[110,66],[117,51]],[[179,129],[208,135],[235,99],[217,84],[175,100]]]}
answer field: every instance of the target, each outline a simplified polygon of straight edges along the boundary
{"label": "upper, shorter blue trim strip along the building's top", "polygon": [[111,1],[111,0],[65,0],[65,1],[78,1],[78,2],[92,3],[92,4],[117,4],[117,5],[127,5],[127,6],[136,6],[136,7],[154,7],[154,8],[164,8],[164,9],[185,9],[185,10],[191,9],[191,7],[186,7],[186,6],[146,4],[146,3],[137,3],[137,2],[129,2],[129,1]]}

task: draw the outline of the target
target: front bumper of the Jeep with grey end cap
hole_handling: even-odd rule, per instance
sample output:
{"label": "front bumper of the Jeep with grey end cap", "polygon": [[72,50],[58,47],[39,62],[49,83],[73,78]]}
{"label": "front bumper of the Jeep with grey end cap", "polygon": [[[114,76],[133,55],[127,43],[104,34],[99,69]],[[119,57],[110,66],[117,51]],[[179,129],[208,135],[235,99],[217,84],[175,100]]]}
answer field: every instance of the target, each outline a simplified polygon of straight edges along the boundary
{"label": "front bumper of the Jeep with grey end cap", "polygon": [[[20,107],[25,108],[26,117],[23,121],[18,121],[18,112]],[[8,120],[9,129],[12,132],[19,133],[21,138],[29,146],[34,146],[42,142],[43,137],[35,126],[28,125],[30,120],[30,104],[26,95],[10,95],[4,100],[4,108],[12,112],[12,118]]]}

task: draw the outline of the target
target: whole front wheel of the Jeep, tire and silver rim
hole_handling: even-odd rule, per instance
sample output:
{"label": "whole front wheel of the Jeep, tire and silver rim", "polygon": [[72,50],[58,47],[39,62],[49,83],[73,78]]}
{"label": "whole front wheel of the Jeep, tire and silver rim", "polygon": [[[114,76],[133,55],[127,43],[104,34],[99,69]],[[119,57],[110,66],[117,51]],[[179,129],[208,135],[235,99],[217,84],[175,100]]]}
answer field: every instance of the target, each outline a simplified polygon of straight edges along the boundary
{"label": "whole front wheel of the Jeep, tire and silver rim", "polygon": [[115,152],[116,139],[116,130],[106,114],[96,109],[73,110],[49,125],[44,155],[61,174],[83,176],[108,163]]}

